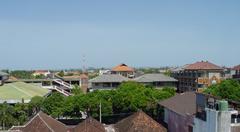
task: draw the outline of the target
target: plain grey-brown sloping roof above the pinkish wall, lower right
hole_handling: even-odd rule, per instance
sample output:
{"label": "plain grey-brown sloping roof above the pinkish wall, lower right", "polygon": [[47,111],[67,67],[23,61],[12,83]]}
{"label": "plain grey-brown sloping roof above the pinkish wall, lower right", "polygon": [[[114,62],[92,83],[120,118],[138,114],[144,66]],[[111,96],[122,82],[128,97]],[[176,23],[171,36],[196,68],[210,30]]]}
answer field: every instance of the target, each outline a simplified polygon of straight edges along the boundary
{"label": "plain grey-brown sloping roof above the pinkish wall, lower right", "polygon": [[195,92],[185,92],[159,102],[159,104],[180,115],[193,115],[196,113]]}

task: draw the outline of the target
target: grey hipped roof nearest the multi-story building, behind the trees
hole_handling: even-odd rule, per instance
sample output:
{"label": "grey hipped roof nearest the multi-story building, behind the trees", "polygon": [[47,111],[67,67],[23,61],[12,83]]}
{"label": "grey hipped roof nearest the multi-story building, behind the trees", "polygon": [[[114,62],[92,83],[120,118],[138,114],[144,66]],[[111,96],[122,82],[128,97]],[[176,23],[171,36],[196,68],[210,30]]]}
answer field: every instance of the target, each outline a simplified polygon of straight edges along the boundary
{"label": "grey hipped roof nearest the multi-story building, behind the trees", "polygon": [[145,74],[134,80],[137,82],[177,82],[176,79],[163,74]]}

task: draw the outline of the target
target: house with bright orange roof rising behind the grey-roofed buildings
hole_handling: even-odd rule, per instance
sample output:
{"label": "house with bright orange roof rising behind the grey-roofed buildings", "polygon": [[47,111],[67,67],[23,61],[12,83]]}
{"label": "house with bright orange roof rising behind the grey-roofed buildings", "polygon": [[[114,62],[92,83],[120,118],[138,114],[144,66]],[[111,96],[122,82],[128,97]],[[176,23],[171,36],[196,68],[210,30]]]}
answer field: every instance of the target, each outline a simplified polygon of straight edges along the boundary
{"label": "house with bright orange roof rising behind the grey-roofed buildings", "polygon": [[116,67],[113,67],[111,73],[119,74],[127,78],[134,78],[135,70],[126,64],[120,64]]}

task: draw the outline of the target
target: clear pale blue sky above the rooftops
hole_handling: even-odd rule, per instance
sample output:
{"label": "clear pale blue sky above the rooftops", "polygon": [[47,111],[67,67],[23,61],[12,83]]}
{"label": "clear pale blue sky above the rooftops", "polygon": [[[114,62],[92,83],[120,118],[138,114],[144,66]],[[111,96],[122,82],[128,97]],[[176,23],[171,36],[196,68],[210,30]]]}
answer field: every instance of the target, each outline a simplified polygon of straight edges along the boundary
{"label": "clear pale blue sky above the rooftops", "polygon": [[1,0],[0,69],[239,64],[239,0]]}

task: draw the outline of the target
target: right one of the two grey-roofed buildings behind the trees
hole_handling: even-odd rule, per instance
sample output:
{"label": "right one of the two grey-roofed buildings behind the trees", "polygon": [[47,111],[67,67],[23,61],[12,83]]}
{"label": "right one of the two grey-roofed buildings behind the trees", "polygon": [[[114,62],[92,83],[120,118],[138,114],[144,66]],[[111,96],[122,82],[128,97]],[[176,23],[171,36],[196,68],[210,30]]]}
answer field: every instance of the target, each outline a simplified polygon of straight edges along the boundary
{"label": "right one of the two grey-roofed buildings behind the trees", "polygon": [[143,83],[145,85],[151,85],[156,88],[170,86],[170,87],[177,87],[177,80],[166,76],[164,74],[144,74],[137,78],[133,79],[136,82]]}

